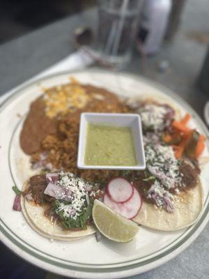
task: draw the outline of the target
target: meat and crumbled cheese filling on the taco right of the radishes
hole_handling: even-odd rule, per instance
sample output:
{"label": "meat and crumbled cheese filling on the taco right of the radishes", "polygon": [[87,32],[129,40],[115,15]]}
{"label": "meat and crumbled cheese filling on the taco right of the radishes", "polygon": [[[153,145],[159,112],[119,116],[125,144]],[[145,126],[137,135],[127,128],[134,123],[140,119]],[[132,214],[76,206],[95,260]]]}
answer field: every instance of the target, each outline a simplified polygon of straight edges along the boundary
{"label": "meat and crumbled cheese filling on the taco right of the radishes", "polygon": [[173,195],[196,186],[199,169],[177,160],[171,146],[150,142],[145,137],[146,171],[137,185],[146,201],[168,212],[175,211]]}

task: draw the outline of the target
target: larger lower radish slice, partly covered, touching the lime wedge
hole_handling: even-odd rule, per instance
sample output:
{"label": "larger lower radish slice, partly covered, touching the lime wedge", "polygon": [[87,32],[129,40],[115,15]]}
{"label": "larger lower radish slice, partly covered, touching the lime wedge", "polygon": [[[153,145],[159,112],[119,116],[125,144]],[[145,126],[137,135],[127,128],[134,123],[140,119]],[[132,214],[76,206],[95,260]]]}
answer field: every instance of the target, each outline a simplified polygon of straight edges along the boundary
{"label": "larger lower radish slice, partly covered, touching the lime wedge", "polygon": [[104,194],[104,204],[127,219],[134,218],[139,212],[139,209],[141,209],[142,199],[137,189],[134,187],[133,189],[134,193],[127,202],[114,202],[107,193]]}

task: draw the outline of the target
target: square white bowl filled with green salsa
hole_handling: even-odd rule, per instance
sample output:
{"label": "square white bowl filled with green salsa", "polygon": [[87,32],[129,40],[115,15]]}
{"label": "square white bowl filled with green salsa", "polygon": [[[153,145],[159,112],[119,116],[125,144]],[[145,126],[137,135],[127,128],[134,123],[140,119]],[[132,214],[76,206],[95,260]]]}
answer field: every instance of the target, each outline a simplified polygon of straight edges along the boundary
{"label": "square white bowl filled with green salsa", "polygon": [[82,169],[145,169],[140,116],[83,113],[77,166]]}

